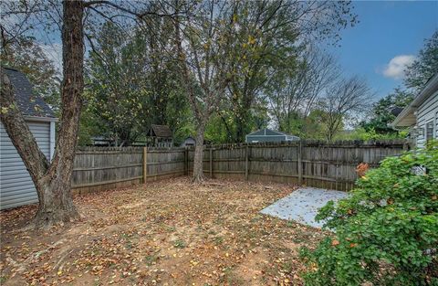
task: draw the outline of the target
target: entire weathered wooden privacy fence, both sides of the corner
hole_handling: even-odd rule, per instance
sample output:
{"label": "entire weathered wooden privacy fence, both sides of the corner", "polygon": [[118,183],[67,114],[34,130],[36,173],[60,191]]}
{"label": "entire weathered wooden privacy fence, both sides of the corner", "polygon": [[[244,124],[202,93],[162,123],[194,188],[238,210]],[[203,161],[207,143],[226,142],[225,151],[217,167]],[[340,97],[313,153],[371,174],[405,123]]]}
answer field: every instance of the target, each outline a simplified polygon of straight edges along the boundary
{"label": "entire weathered wooden privacy fence, both sides of the corner", "polygon": [[[214,178],[293,183],[348,191],[356,166],[377,166],[401,154],[399,141],[225,144],[204,146],[203,172]],[[73,169],[74,193],[139,184],[193,172],[193,147],[87,147],[78,149]]]}

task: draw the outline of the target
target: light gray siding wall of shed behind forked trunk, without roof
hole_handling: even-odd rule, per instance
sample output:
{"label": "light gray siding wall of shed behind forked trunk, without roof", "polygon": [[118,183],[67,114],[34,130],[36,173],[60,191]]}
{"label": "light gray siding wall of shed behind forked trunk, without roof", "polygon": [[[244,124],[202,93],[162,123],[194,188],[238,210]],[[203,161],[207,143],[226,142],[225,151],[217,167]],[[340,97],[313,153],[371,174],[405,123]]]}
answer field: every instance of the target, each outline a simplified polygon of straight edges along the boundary
{"label": "light gray siding wall of shed behind forked trunk, without roof", "polygon": [[[27,122],[41,151],[50,156],[50,122]],[[35,185],[0,122],[0,209],[36,203]]]}

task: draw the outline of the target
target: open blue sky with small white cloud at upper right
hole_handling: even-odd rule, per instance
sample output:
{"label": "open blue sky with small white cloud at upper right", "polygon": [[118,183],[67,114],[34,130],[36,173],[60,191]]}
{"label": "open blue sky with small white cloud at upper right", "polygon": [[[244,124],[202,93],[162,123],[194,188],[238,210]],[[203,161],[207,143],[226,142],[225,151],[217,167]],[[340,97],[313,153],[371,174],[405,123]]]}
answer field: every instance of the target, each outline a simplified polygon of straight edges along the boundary
{"label": "open blue sky with small white cloud at upper right", "polygon": [[438,28],[438,1],[358,1],[354,6],[360,23],[343,30],[341,47],[329,50],[346,75],[367,79],[381,98],[402,84],[403,65]]}

